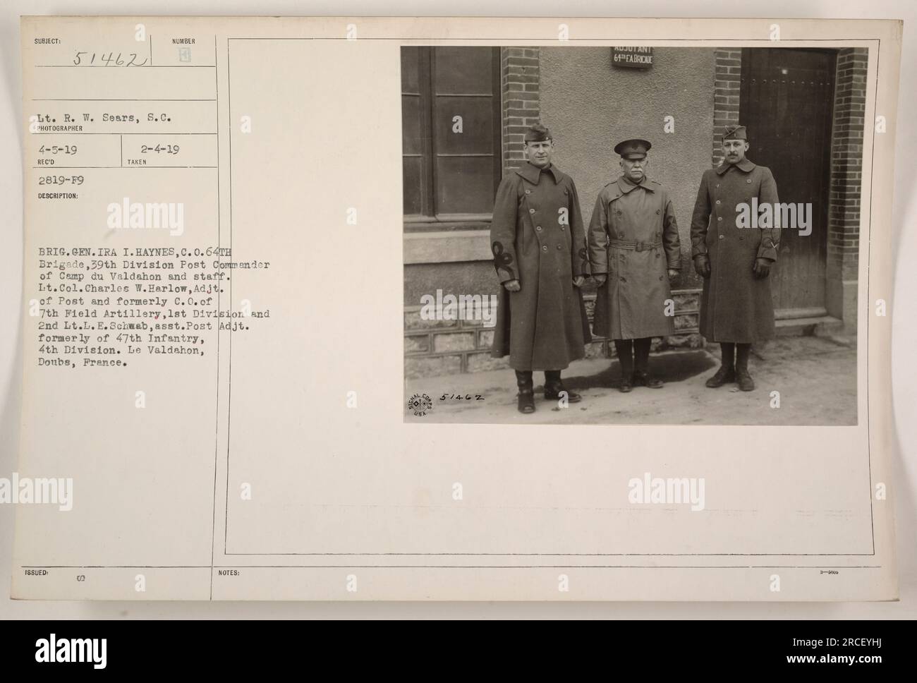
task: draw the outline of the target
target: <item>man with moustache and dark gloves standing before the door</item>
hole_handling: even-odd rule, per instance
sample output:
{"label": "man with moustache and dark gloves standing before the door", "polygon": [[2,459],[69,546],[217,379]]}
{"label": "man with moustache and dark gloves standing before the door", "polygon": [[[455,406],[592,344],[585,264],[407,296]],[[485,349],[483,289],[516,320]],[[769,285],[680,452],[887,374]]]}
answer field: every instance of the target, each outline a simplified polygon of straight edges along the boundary
{"label": "man with moustache and dark gloves standing before the door", "polygon": [[707,380],[711,389],[732,381],[742,391],[755,389],[748,372],[751,345],[775,333],[768,275],[777,260],[779,227],[740,227],[737,218],[755,198],[759,206],[776,206],[777,183],[767,167],[746,158],[747,149],[746,127],[727,127],[724,161],[703,171],[691,217],[691,257],[703,278],[701,334],[723,351],[720,369]]}

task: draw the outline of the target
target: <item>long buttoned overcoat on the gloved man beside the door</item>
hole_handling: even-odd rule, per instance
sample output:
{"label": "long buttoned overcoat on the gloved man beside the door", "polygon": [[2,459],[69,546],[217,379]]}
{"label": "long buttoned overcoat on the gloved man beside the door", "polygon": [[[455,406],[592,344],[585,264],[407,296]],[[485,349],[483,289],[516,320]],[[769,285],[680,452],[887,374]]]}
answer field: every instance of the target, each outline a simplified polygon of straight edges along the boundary
{"label": "long buttoned overcoat on the gloved man beside the door", "polygon": [[779,202],[766,166],[744,159],[703,172],[691,216],[691,257],[710,258],[701,295],[701,334],[710,341],[753,344],[774,336],[773,270],[757,279],[752,268],[757,258],[777,260],[780,228],[737,222],[756,198],[758,206]]}

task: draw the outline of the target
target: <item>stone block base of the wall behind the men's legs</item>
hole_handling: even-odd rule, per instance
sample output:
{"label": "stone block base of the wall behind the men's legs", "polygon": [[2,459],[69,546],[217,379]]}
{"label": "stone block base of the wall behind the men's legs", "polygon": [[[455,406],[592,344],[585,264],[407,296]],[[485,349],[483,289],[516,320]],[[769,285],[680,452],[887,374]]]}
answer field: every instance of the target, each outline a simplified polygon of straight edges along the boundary
{"label": "stone block base of the wall behind the men's legs", "polygon": [[[676,290],[676,335],[653,340],[653,350],[700,348],[698,334],[700,290]],[[585,295],[590,327],[595,308],[595,294]],[[404,309],[404,376],[435,377],[460,372],[509,368],[507,358],[491,358],[493,328],[480,320],[424,320],[420,306]],[[595,337],[586,346],[586,358],[613,358],[614,345],[604,337]]]}

